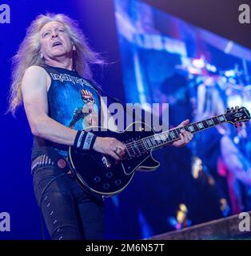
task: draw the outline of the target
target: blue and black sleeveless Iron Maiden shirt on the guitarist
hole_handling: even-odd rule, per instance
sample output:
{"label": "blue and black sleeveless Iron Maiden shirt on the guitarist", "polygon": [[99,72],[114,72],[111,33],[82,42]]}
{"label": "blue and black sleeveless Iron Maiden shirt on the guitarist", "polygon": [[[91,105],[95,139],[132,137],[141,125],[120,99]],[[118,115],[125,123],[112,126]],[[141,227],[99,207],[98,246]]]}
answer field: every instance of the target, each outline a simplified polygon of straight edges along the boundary
{"label": "blue and black sleeveless Iron Maiden shirt on the guitarist", "polygon": [[[100,98],[92,82],[82,78],[76,71],[54,66],[42,66],[50,75],[51,84],[47,92],[50,118],[74,130],[98,126]],[[62,156],[67,156],[68,146],[34,136],[32,159],[46,154],[54,147]]]}

